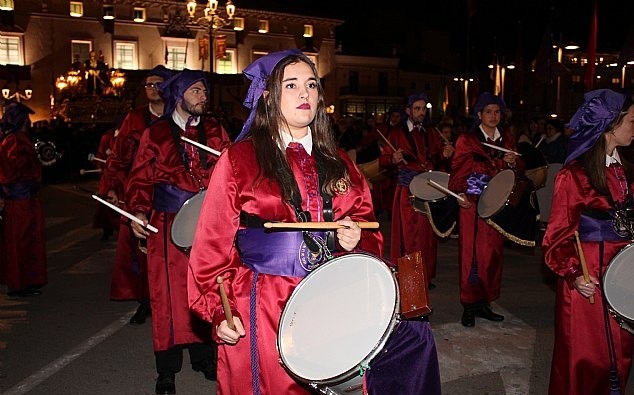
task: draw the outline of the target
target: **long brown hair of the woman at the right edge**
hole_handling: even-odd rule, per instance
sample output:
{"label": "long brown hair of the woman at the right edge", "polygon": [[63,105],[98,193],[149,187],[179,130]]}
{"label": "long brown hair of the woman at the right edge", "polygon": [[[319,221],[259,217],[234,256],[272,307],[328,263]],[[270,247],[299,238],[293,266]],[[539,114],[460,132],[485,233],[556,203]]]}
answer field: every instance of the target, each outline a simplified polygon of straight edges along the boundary
{"label": "long brown hair of the woman at the right edge", "polygon": [[[619,115],[610,122],[597,142],[589,150],[579,156],[579,163],[581,163],[581,166],[586,170],[588,178],[590,179],[590,185],[601,195],[610,196],[610,189],[608,188],[608,183],[605,178],[606,135],[612,133],[614,129],[621,125],[623,118],[632,105],[634,105],[634,102],[632,98],[628,96],[623,103]],[[623,167],[625,168],[625,176],[627,177],[628,183],[631,183],[634,181],[634,166],[629,161],[623,159],[625,155],[621,151],[622,148],[624,147],[616,147]]]}

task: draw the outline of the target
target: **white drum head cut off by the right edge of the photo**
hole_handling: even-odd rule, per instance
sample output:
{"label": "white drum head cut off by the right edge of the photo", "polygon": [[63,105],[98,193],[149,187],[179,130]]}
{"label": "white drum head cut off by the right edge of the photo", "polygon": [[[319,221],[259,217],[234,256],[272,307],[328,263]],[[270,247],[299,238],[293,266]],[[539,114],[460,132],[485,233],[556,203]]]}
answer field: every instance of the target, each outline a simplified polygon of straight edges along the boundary
{"label": "white drum head cut off by the right edge of the photo", "polygon": [[612,258],[603,274],[603,295],[614,311],[634,322],[634,244],[628,244]]}

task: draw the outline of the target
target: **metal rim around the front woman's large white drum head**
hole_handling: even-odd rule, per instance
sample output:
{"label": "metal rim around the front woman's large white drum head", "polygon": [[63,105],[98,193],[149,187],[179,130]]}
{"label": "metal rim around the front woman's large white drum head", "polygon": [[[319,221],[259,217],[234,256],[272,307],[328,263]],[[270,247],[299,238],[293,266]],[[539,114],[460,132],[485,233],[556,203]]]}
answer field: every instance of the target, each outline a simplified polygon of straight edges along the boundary
{"label": "metal rim around the front woman's large white drum head", "polygon": [[[371,258],[372,260],[382,263],[383,264],[383,268],[384,268],[384,272],[385,273],[389,273],[391,279],[392,279],[392,284],[394,285],[394,306],[392,308],[392,313],[391,313],[391,318],[389,319],[388,325],[386,328],[383,329],[383,333],[381,334],[380,339],[378,339],[377,343],[373,346],[373,348],[370,350],[370,352],[363,357],[362,359],[360,359],[354,366],[350,367],[349,369],[345,370],[342,373],[339,373],[335,376],[329,377],[329,378],[325,378],[325,379],[310,379],[310,378],[306,378],[303,376],[300,376],[298,374],[298,372],[296,371],[296,369],[294,369],[293,367],[291,367],[288,363],[288,359],[286,358],[286,356],[284,355],[284,350],[283,347],[281,345],[282,343],[282,331],[281,331],[281,327],[282,327],[282,323],[284,322],[284,319],[287,315],[287,310],[288,307],[291,305],[291,303],[297,298],[297,294],[300,292],[299,290],[302,288],[302,283],[304,283],[305,285],[305,280],[308,279],[311,275],[315,274],[315,273],[319,273],[322,270],[325,270],[325,268],[328,268],[330,266],[332,266],[333,263],[336,263],[338,261],[340,261],[343,258],[348,258],[348,257],[353,257],[353,256],[363,256],[365,258]],[[349,380],[351,380],[354,377],[354,373],[359,371],[359,365],[365,365],[368,362],[370,362],[372,359],[374,359],[374,357],[376,357],[376,355],[381,352],[381,350],[383,349],[383,347],[385,347],[385,343],[387,343],[388,339],[390,338],[390,334],[394,331],[394,328],[397,324],[397,322],[399,321],[398,319],[398,313],[399,313],[399,309],[400,309],[400,293],[399,293],[399,288],[398,288],[398,281],[396,280],[396,275],[394,274],[394,272],[391,270],[391,268],[389,267],[389,265],[380,257],[377,257],[376,255],[370,254],[370,253],[366,253],[366,252],[354,252],[354,253],[349,253],[349,254],[345,254],[345,255],[341,255],[338,257],[333,258],[332,260],[324,263],[323,265],[319,266],[318,268],[316,268],[315,270],[313,270],[311,273],[309,273],[306,277],[304,277],[300,283],[295,287],[295,289],[293,290],[293,292],[291,293],[291,296],[288,298],[288,300],[286,301],[286,304],[284,306],[284,309],[282,310],[282,313],[280,314],[280,320],[278,323],[278,329],[277,329],[277,342],[276,342],[276,347],[277,347],[277,351],[278,351],[278,355],[280,357],[280,362],[282,364],[282,366],[288,371],[290,372],[294,377],[296,377],[298,380],[307,383],[307,384],[315,384],[315,385],[337,385],[337,384],[341,384],[341,383],[345,383]]]}

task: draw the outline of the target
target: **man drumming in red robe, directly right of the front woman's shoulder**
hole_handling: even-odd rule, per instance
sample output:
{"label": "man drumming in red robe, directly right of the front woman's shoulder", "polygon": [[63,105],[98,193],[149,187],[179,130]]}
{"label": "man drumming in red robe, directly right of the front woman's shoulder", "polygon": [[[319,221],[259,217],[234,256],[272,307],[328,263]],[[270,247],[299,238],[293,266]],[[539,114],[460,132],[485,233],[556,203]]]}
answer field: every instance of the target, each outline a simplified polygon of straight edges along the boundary
{"label": "man drumming in red robe, directly right of the front woman's shoulder", "polygon": [[425,171],[438,170],[444,160],[454,153],[454,147],[443,144],[439,133],[429,127],[425,93],[416,93],[407,98],[405,114],[407,120],[401,128],[390,132],[388,139],[392,147],[386,147],[381,154],[382,166],[398,166],[397,185],[392,203],[392,229],[390,260],[421,251],[427,267],[428,286],[434,288],[431,280],[436,276],[436,252],[438,239],[429,218],[422,215],[412,205],[409,184],[412,179]]}

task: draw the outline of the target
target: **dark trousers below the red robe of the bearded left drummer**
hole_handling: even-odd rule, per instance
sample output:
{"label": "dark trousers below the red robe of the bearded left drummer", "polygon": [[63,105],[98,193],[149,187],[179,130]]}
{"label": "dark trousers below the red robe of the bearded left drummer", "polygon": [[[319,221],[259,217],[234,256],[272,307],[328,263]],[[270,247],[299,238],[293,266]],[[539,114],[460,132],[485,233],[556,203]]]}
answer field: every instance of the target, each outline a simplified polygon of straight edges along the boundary
{"label": "dark trousers below the red robe of the bearded left drummer", "polygon": [[189,349],[189,359],[192,366],[205,366],[207,363],[216,364],[218,348],[215,344],[191,343],[176,345],[169,350],[155,351],[156,372],[178,373],[183,366],[183,349]]}

